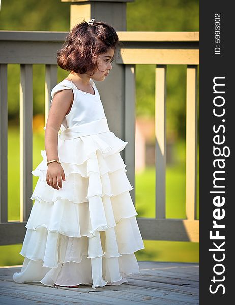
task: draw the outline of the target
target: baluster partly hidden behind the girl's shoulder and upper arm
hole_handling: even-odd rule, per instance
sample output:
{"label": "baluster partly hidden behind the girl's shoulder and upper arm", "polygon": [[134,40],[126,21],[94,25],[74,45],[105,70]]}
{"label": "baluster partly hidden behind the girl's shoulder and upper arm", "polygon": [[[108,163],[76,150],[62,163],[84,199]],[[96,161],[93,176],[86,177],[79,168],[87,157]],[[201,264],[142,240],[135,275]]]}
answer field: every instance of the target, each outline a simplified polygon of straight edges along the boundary
{"label": "baluster partly hidden behind the girl's shoulder and upper arm", "polygon": [[45,124],[50,110],[51,90],[57,84],[57,65],[45,67]]}

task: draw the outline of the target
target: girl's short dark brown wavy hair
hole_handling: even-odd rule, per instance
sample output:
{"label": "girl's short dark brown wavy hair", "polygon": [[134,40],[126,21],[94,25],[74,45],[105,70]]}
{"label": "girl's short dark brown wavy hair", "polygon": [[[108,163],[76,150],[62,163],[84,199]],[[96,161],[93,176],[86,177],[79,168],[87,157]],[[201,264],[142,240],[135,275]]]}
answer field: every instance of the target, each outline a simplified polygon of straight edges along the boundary
{"label": "girl's short dark brown wavy hair", "polygon": [[[116,51],[119,43],[112,26],[102,21],[88,24],[83,19],[67,34],[62,48],[57,51],[57,63],[69,72],[90,73],[92,76],[98,69],[99,55],[109,49]],[[114,56],[111,62],[113,60]]]}

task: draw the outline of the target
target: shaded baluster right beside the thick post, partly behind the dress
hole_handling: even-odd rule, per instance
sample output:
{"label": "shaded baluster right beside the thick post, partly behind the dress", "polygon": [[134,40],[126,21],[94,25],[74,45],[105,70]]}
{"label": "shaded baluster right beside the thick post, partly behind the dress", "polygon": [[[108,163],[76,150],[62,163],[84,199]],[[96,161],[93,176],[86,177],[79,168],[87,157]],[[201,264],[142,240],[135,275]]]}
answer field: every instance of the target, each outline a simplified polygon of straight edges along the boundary
{"label": "shaded baluster right beside the thick post, partly behind the dress", "polygon": [[[129,167],[127,176],[135,188],[135,65],[125,65],[125,103],[124,103],[124,134],[128,142],[124,150],[125,164]],[[135,204],[135,189],[130,191]]]}

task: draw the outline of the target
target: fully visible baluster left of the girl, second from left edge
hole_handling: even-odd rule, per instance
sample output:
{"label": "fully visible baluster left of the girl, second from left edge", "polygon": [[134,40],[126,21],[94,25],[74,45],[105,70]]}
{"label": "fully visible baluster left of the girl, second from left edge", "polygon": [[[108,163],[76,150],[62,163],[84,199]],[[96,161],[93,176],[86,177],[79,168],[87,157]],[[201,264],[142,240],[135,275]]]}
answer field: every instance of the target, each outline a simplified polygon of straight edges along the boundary
{"label": "fully visible baluster left of the girl, second from left edge", "polygon": [[20,65],[20,221],[26,221],[32,208],[32,121],[33,70]]}

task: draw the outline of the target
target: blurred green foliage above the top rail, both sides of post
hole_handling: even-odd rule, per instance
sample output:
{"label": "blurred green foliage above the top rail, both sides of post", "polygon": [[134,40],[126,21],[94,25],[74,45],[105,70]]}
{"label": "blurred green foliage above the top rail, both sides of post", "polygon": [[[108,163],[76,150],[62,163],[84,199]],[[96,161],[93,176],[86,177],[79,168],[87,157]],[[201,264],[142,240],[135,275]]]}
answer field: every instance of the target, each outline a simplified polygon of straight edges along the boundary
{"label": "blurred green foliage above the top rail, both sides of post", "polygon": [[[0,28],[69,31],[70,3],[60,0],[2,0]],[[127,31],[199,31],[198,0],[127,2]]]}

